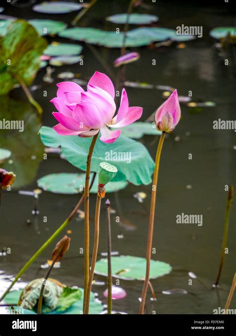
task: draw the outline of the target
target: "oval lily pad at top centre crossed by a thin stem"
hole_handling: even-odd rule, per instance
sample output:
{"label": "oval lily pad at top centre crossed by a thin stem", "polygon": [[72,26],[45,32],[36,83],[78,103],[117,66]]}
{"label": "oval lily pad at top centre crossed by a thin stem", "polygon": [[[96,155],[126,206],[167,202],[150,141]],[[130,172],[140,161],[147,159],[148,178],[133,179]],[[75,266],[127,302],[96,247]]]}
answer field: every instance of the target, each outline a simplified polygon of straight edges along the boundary
{"label": "oval lily pad at top centre crossed by a thin stem", "polygon": [[[128,16],[128,23],[129,24],[150,24],[152,22],[158,21],[158,16],[156,15],[149,15],[149,14],[138,14],[133,13],[129,14]],[[113,23],[121,23],[125,24],[127,21],[127,14],[116,14],[107,17],[108,21]]]}

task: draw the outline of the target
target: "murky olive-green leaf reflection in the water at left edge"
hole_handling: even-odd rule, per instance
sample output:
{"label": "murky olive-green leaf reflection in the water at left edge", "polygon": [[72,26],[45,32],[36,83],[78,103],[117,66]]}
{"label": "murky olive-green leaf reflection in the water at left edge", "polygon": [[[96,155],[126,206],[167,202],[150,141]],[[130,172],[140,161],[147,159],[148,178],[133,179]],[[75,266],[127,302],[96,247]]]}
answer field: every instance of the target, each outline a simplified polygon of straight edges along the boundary
{"label": "murky olive-green leaf reflection in the water at left edge", "polygon": [[0,107],[6,120],[24,121],[23,128],[2,129],[0,136],[0,147],[6,147],[11,152],[9,160],[5,160],[4,165],[0,163],[0,167],[14,172],[17,178],[11,188],[18,189],[34,181],[39,162],[43,159],[44,146],[37,134],[40,123],[28,102],[0,96]]}

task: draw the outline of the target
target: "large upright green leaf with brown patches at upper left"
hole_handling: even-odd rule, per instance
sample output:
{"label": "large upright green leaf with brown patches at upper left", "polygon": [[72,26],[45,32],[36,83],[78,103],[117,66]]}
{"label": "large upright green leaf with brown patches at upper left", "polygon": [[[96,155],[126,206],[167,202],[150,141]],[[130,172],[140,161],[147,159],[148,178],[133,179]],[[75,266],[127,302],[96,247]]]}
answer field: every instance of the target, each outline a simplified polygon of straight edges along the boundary
{"label": "large upright green leaf with brown patches at upper left", "polygon": [[40,66],[40,56],[47,41],[27,21],[13,21],[0,38],[0,95],[18,84],[15,76],[29,86]]}

